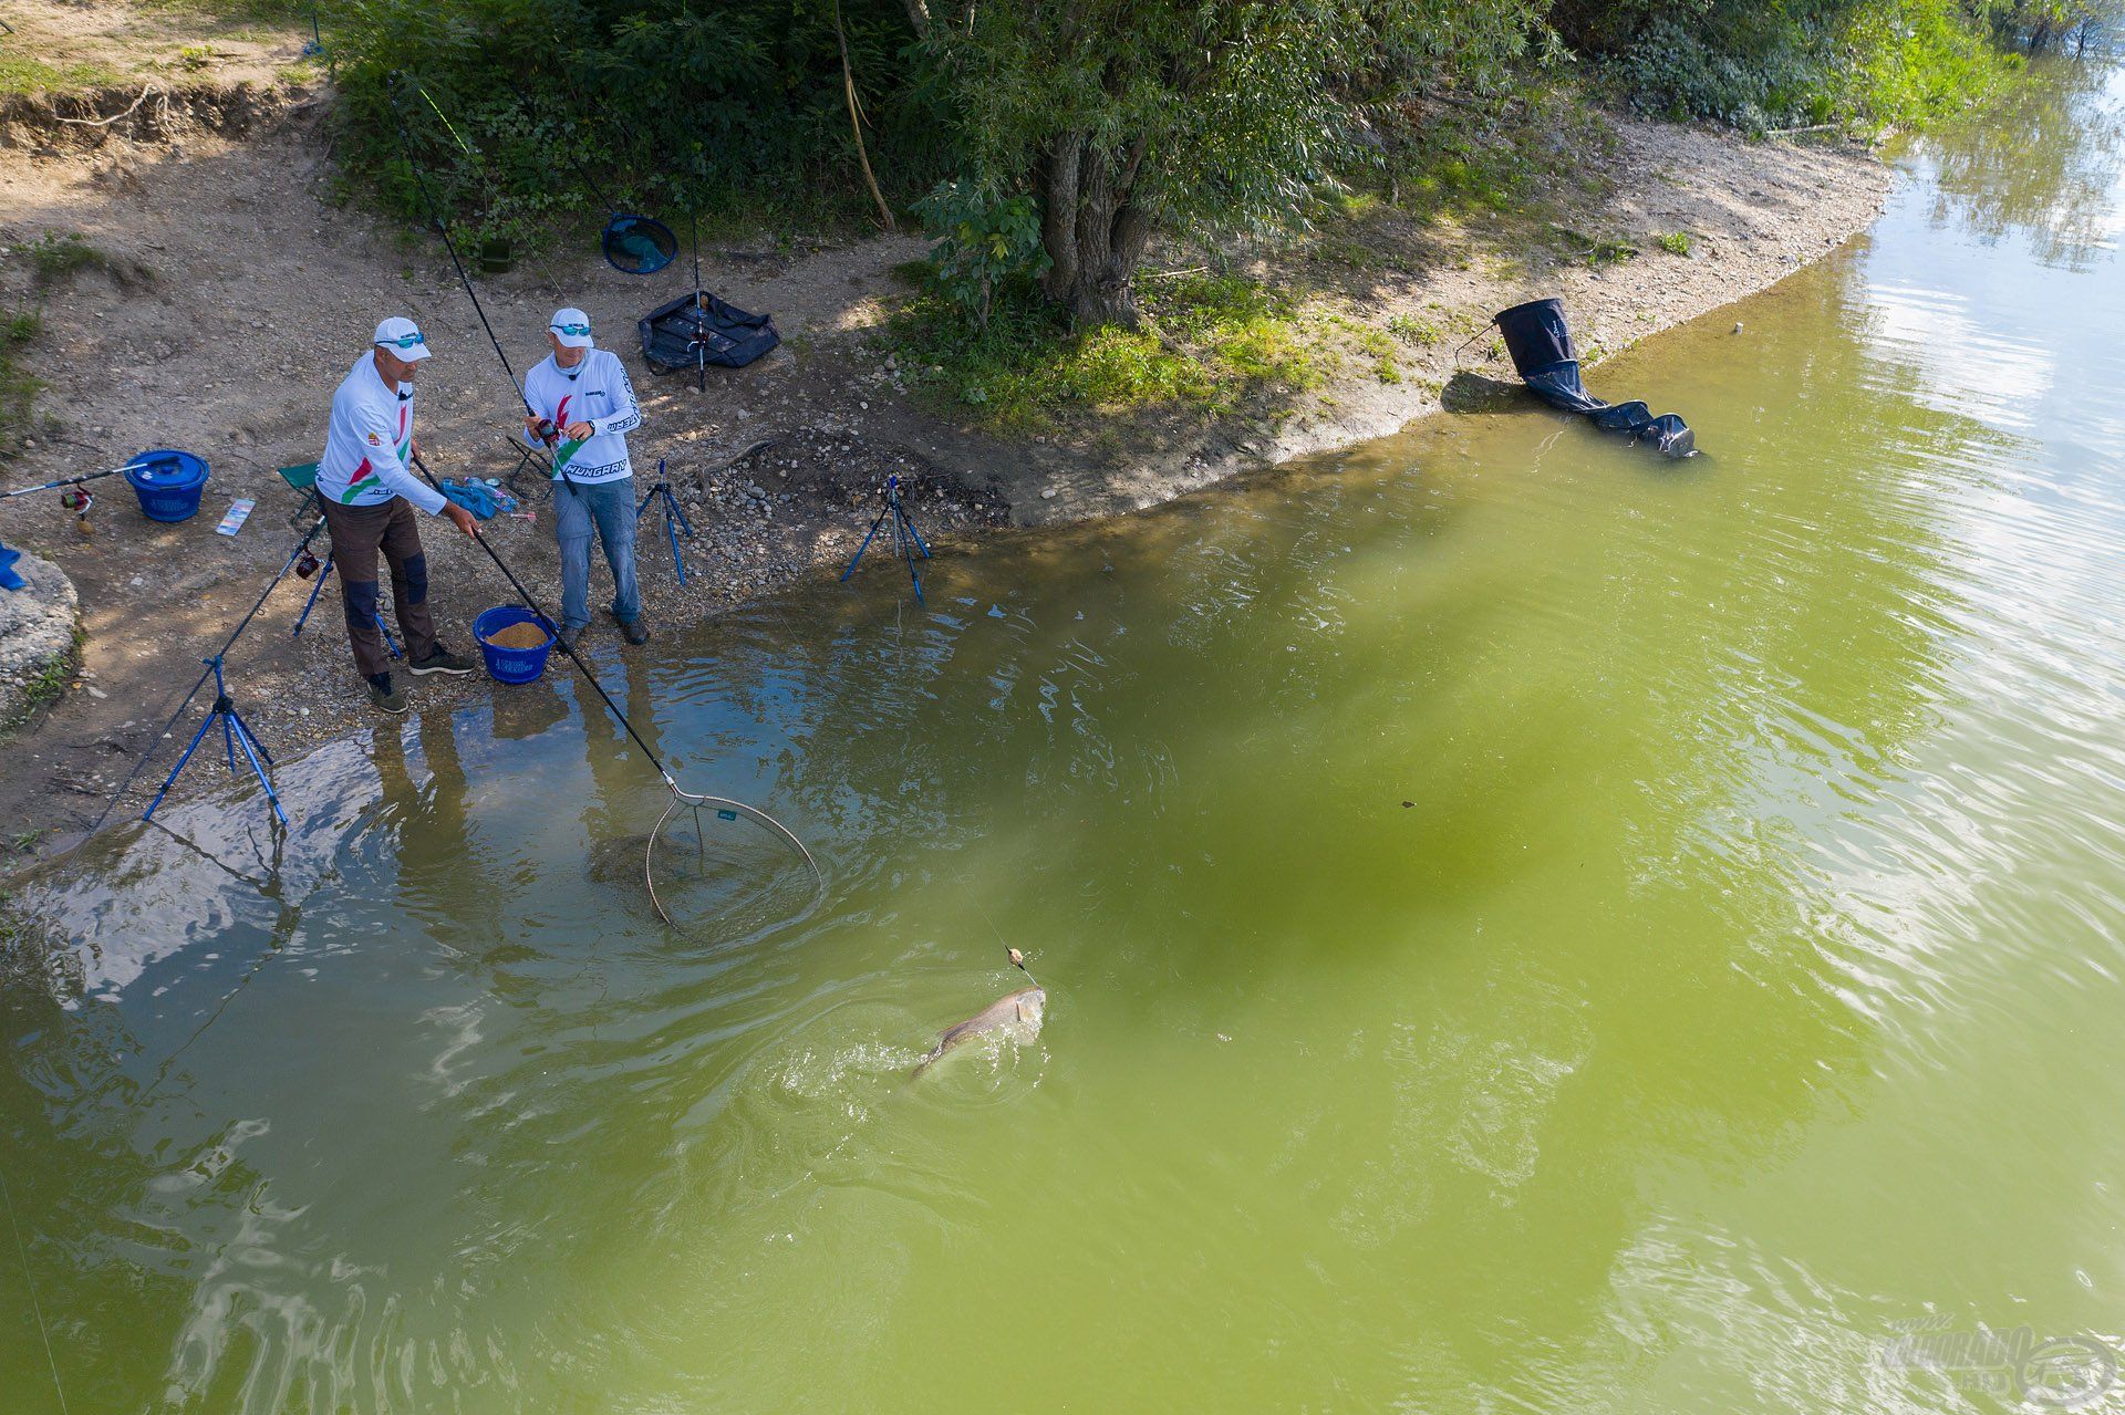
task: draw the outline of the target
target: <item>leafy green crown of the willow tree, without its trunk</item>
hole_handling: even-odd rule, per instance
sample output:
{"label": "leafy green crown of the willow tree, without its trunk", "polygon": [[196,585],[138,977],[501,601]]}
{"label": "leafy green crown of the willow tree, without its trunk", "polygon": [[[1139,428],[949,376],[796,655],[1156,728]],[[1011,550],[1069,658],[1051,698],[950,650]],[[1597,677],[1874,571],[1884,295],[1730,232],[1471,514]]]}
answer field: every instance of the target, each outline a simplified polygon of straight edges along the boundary
{"label": "leafy green crown of the willow tree, without its trunk", "polygon": [[1445,76],[1496,76],[1526,51],[1536,0],[1092,0],[984,4],[941,45],[969,168],[1026,185],[1086,138],[1167,232],[1281,229],[1343,164],[1368,161],[1379,110]]}

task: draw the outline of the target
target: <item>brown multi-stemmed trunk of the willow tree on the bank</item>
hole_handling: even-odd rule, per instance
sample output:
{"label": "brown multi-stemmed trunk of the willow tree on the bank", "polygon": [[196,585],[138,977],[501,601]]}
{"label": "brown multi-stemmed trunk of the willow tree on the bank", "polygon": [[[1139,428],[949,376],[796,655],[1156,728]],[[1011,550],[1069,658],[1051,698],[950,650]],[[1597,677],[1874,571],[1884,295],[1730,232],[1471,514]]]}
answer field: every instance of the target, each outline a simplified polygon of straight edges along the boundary
{"label": "brown multi-stemmed trunk of the willow tree on the bank", "polygon": [[1135,198],[1143,147],[1103,151],[1086,134],[1065,134],[1048,149],[1035,183],[1041,193],[1041,287],[1080,329],[1137,329],[1137,263],[1152,240],[1150,215]]}

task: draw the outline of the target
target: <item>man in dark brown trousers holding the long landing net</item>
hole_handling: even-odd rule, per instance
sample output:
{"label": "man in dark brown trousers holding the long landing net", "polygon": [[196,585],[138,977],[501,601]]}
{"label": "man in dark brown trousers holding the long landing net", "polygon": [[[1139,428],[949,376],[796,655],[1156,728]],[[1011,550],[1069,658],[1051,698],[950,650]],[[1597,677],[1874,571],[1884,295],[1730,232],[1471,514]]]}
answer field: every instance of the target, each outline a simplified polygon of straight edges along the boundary
{"label": "man in dark brown trousers holding the long landing net", "polygon": [[404,317],[376,325],[370,351],[355,359],[332,395],[325,455],[317,463],[317,499],[332,533],[332,563],[340,567],[340,597],[346,601],[346,640],[355,650],[355,671],[370,684],[370,701],[385,712],[406,712],[406,695],[391,684],[391,659],[376,631],[376,552],[391,565],[391,608],[406,635],[406,667],[414,674],[470,674],[436,637],[436,616],[427,608],[427,555],[412,508],[472,535],[474,518],[444,499],[412,470],[419,442],[412,436],[412,378],[427,357],[427,340]]}

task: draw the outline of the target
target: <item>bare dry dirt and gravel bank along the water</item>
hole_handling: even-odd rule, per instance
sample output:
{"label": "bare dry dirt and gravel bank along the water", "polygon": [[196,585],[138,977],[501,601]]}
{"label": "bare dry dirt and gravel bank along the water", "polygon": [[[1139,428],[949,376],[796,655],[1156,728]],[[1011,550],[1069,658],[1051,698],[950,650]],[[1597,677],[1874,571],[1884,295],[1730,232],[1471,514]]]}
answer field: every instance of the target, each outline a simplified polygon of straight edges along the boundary
{"label": "bare dry dirt and gravel bank along the water", "polygon": [[[115,478],[98,484],[85,538],[53,495],[0,504],[0,540],[72,576],[85,631],[76,680],[0,748],[0,820],[42,831],[17,850],[19,863],[87,824],[142,752],[174,756],[204,712],[202,697],[178,741],[155,739],[202,654],[302,533],[300,501],[274,467],[317,459],[332,389],[380,317],[412,314],[436,353],[421,372],[419,427],[436,474],[504,476],[516,463],[504,444],[516,425],[512,391],[440,244],[334,204],[323,113],[317,87],[244,85],[219,102],[178,100],[149,130],[136,113],[94,130],[0,132],[8,249],[0,306],[42,308],[45,334],[28,353],[49,385],[34,446],[0,463],[0,482],[68,476],[159,446],[212,465],[200,516],[181,525],[140,518]],[[1617,121],[1617,142],[1634,176],[1583,225],[1640,244],[1640,257],[1600,270],[1568,255],[1498,259],[1434,234],[1422,251],[1371,270],[1362,289],[1324,295],[1373,327],[1398,312],[1445,325],[1451,338],[1402,353],[1400,385],[1381,385],[1354,361],[1322,389],[1216,423],[1139,414],[1111,419],[1096,438],[1001,444],[924,410],[867,338],[897,297],[892,268],[922,253],[910,238],[703,253],[703,285],[774,312],[786,340],[748,370],[710,370],[706,393],[684,376],[648,376],[631,353],[633,321],[688,289],[684,263],[635,278],[595,251],[563,251],[480,278],[480,297],[518,372],[542,355],[559,304],[580,304],[601,342],[629,351],[644,402],[644,429],[631,436],[638,484],[665,459],[699,531],[686,546],[691,584],[680,589],[661,525],[646,523],[644,593],[652,625],[667,629],[846,559],[886,472],[914,478],[918,523],[948,538],[1150,506],[1434,412],[1451,346],[1507,304],[1560,293],[1581,340],[1615,351],[1821,255],[1864,229],[1887,191],[1885,170],[1851,151],[1747,144],[1628,119]],[[1687,257],[1653,244],[1674,229],[1694,234]],[[108,259],[38,287],[21,249],[53,232],[76,232]],[[1477,346],[1460,361],[1483,368],[1485,357]],[[536,591],[550,593],[550,508],[536,499],[536,478],[518,484],[536,518],[499,518],[489,533]],[[257,510],[240,535],[217,535],[234,497],[255,497]],[[472,616],[510,593],[446,525],[423,533],[444,637],[470,652]],[[283,758],[370,720],[332,591],[302,637],[289,637],[306,593],[289,578],[230,659],[242,703]],[[593,644],[620,652],[610,631],[593,631]],[[414,684],[416,705],[480,693],[482,678]],[[134,797],[166,769],[142,773]],[[215,780],[198,773],[202,784]]]}

